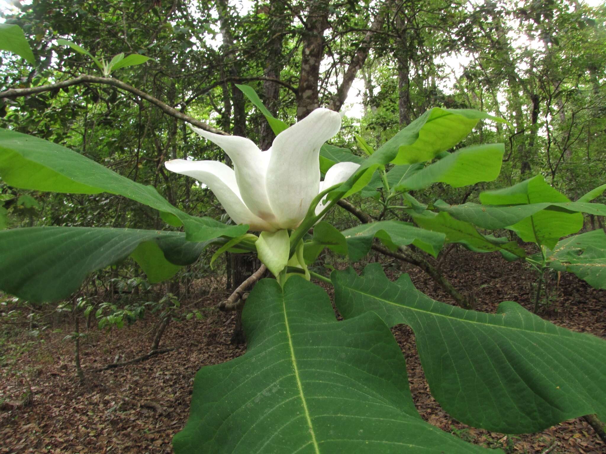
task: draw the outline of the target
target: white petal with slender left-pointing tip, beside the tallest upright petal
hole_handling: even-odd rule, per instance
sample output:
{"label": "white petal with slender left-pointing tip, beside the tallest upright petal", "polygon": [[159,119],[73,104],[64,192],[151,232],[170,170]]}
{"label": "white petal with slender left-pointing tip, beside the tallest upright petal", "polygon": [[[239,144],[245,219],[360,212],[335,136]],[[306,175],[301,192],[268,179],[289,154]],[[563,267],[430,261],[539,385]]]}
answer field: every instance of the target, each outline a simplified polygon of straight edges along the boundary
{"label": "white petal with slender left-pointing tip, beside the tallest upright petal", "polygon": [[238,188],[246,206],[261,219],[269,223],[274,222],[275,215],[271,211],[265,189],[265,172],[271,153],[259,150],[259,147],[246,137],[222,136],[191,125],[190,128],[225,151],[233,162]]}

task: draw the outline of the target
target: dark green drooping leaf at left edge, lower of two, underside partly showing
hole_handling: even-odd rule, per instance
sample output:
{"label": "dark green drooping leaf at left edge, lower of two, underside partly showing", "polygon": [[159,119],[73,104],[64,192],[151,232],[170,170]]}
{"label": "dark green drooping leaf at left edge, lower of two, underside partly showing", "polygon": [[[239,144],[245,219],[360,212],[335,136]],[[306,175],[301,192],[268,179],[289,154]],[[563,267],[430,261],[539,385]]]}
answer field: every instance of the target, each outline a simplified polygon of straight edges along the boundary
{"label": "dark green drooping leaf at left edge, lower of two, underside partly showing", "polygon": [[0,232],[0,289],[25,300],[69,297],[86,276],[129,255],[150,282],[195,262],[207,243],[180,232],[86,227],[31,227]]}

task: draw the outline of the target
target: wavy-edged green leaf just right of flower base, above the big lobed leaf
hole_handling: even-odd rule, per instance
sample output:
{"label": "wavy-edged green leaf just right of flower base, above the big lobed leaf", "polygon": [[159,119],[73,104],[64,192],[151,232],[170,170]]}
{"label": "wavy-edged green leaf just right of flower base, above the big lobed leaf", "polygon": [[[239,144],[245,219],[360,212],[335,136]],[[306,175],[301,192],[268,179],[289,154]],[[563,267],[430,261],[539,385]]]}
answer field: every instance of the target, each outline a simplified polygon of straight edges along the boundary
{"label": "wavy-edged green leaf just right of flower base, above the big lobed leaf", "polygon": [[437,257],[444,246],[445,235],[428,229],[419,229],[411,223],[400,221],[380,221],[362,224],[341,232],[347,240],[349,257],[354,262],[368,254],[376,237],[392,251],[398,246],[415,245],[428,254]]}

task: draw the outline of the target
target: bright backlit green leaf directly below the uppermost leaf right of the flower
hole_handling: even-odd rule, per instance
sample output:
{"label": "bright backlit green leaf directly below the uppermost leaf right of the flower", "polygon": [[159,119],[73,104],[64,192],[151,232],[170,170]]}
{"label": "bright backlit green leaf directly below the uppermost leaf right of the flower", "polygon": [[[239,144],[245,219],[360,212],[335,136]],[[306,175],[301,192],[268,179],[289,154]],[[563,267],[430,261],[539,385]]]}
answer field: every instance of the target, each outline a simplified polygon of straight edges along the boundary
{"label": "bright backlit green leaf directly below the uppermost leaf right of the flower", "polygon": [[501,173],[504,152],[505,146],[502,143],[467,146],[421,171],[402,177],[395,189],[413,191],[438,182],[460,188],[481,181],[492,181]]}

